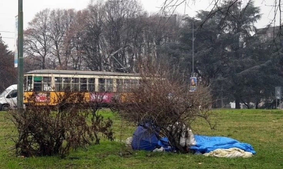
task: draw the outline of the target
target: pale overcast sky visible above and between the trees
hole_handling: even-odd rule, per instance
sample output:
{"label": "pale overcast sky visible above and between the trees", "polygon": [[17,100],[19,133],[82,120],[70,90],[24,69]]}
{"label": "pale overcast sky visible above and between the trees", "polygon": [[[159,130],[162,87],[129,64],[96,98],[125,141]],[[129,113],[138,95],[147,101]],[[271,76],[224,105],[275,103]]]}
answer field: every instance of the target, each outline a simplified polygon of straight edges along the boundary
{"label": "pale overcast sky visible above and between the trees", "polygon": [[[148,12],[158,11],[164,1],[165,0],[140,0],[144,9]],[[175,1],[181,2],[183,0]],[[210,3],[213,1],[214,0],[196,0],[195,3],[193,3],[192,0],[187,0],[186,5],[185,3],[180,5],[176,12],[194,16],[196,14],[195,11],[210,10],[212,8]],[[263,14],[261,20],[256,23],[256,27],[265,27],[273,18],[274,9],[271,7],[273,2],[274,0],[255,0],[255,6],[259,6],[261,8],[261,13]],[[27,23],[31,21],[33,16],[45,8],[75,8],[76,10],[81,10],[85,8],[88,3],[89,0],[23,0],[23,28],[27,28]],[[5,43],[8,44],[10,50],[13,50],[14,48],[13,32],[15,31],[15,16],[17,14],[18,0],[0,0],[0,34]],[[279,19],[276,23],[279,23]]]}

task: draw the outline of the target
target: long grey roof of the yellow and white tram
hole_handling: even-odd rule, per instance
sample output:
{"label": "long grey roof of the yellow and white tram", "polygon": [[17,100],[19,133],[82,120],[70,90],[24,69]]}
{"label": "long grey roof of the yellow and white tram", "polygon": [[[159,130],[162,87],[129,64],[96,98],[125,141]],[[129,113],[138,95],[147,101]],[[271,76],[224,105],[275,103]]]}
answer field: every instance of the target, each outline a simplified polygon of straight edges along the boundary
{"label": "long grey roof of the yellow and white tram", "polygon": [[102,72],[85,70],[32,70],[25,74],[68,74],[68,75],[108,75],[108,76],[140,76],[139,73]]}

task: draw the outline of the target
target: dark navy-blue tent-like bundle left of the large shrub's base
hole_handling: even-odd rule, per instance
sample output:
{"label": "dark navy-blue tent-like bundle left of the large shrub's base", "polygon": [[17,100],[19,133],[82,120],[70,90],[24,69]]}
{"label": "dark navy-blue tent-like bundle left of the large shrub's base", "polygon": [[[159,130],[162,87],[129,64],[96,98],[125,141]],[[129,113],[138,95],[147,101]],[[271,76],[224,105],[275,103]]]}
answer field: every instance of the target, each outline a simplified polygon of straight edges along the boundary
{"label": "dark navy-blue tent-like bundle left of the large shrub's base", "polygon": [[150,123],[140,124],[133,134],[134,150],[152,151],[158,146],[159,129]]}

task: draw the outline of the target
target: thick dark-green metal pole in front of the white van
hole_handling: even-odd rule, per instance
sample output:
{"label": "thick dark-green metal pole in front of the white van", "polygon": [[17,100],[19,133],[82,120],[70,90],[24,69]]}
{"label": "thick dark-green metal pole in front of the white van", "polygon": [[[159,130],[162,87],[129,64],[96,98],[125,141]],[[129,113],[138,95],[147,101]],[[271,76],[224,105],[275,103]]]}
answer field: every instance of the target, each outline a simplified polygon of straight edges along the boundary
{"label": "thick dark-green metal pole in front of the white van", "polygon": [[18,97],[17,108],[23,108],[23,0],[18,0]]}

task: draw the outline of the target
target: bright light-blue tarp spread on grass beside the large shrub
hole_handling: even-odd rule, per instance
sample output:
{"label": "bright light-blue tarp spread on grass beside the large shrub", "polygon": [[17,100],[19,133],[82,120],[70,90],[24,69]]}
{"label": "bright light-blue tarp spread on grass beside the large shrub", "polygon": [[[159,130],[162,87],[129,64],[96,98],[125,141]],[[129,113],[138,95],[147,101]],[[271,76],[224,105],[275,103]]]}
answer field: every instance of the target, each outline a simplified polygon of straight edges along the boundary
{"label": "bright light-blue tarp spread on grass beside the large shrub", "polygon": [[248,143],[240,143],[235,139],[229,137],[219,137],[219,136],[205,136],[205,135],[194,135],[196,139],[196,145],[191,146],[191,150],[195,150],[199,153],[209,153],[218,148],[228,149],[228,148],[240,148],[246,152],[251,152],[256,154],[254,148]]}

